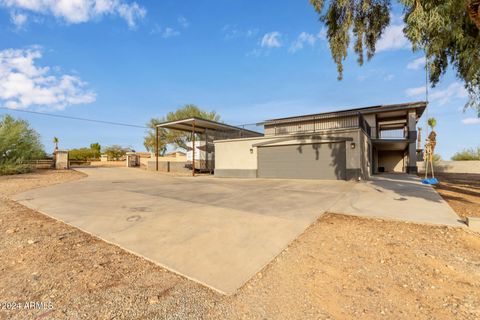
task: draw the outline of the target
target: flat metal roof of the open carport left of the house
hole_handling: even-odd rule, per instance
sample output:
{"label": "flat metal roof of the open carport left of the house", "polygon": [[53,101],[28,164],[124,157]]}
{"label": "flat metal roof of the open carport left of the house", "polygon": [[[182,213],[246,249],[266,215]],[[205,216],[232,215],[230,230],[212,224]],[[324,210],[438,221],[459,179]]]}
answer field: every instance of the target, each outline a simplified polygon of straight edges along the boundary
{"label": "flat metal roof of the open carport left of the house", "polygon": [[237,132],[242,132],[251,136],[263,136],[263,134],[261,134],[260,132],[247,130],[244,128],[231,126],[229,124],[197,118],[197,117],[162,122],[157,124],[156,126],[159,128],[173,129],[173,130],[187,131],[187,132],[194,131],[193,128],[195,127],[195,133],[205,133],[205,131],[207,130],[222,131],[222,132],[237,131]]}

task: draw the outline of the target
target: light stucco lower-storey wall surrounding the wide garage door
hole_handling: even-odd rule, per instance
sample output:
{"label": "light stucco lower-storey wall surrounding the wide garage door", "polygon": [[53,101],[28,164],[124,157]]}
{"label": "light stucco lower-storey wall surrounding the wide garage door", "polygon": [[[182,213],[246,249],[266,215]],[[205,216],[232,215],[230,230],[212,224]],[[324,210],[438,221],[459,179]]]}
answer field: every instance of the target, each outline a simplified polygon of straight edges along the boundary
{"label": "light stucco lower-storey wall surrounding the wide garage door", "polygon": [[[361,138],[361,136],[363,138]],[[314,139],[312,139],[312,137]],[[363,154],[362,150],[369,141],[363,139],[368,140],[361,129],[350,129],[324,131],[321,134],[304,136],[266,136],[261,138],[215,141],[215,176],[257,177],[257,148],[261,146],[261,144],[280,146],[346,140],[347,179],[368,179],[369,175],[367,175],[366,172],[368,171],[367,168],[370,160],[365,159],[365,157],[368,158],[368,155]],[[355,143],[354,149],[351,148],[352,143]],[[363,165],[362,158],[364,159]]]}

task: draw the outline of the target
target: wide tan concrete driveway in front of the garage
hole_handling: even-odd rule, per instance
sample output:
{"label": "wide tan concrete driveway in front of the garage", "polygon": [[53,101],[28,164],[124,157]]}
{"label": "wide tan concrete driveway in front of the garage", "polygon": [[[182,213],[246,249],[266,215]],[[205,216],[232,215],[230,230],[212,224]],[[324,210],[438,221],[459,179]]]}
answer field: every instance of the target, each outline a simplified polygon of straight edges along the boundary
{"label": "wide tan concrete driveway in front of the garage", "polygon": [[433,188],[406,175],[356,183],[79,171],[88,177],[16,200],[227,294],[325,211],[460,225]]}

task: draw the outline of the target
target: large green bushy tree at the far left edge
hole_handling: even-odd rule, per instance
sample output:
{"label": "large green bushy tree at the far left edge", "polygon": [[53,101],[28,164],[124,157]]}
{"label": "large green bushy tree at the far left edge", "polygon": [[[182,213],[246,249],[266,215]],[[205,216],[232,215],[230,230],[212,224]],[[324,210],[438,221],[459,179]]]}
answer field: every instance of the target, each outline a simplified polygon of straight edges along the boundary
{"label": "large green bushy tree at the far left edge", "polygon": [[10,115],[0,120],[0,174],[28,171],[25,161],[43,157],[40,135],[27,121]]}

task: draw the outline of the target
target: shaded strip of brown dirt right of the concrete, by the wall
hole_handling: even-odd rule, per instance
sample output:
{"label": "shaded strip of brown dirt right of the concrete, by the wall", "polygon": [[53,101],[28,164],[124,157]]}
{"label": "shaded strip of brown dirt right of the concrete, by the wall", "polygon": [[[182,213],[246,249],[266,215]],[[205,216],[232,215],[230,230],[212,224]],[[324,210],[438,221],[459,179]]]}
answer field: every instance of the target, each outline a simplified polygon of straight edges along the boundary
{"label": "shaded strip of brown dirt right of the concrete, by the wall", "polygon": [[438,193],[462,218],[480,217],[480,174],[436,174]]}

